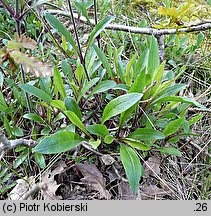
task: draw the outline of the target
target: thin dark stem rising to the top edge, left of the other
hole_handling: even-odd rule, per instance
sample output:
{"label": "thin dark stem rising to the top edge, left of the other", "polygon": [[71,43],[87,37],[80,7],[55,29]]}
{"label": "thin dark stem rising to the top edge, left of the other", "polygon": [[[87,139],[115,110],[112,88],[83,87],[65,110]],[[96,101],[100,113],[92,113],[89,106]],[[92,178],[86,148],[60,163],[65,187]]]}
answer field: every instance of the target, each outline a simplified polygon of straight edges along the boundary
{"label": "thin dark stem rising to the top edge, left of the other", "polygon": [[77,29],[76,29],[76,24],[75,24],[75,20],[74,20],[74,16],[73,16],[72,5],[71,5],[70,0],[67,0],[67,1],[68,1],[69,10],[70,10],[70,14],[71,14],[71,19],[72,19],[72,22],[73,22],[73,28],[74,28],[74,32],[75,32],[75,37],[76,37],[76,41],[77,41],[77,45],[78,45],[78,55],[79,55],[79,59],[80,59],[81,64],[83,65],[83,68],[84,68],[84,71],[85,71],[87,80],[90,81],[90,77],[89,77],[89,74],[88,74],[87,69],[86,69],[85,58],[83,57],[82,50],[81,50],[81,45],[80,45],[80,41],[79,41],[79,38],[78,38],[78,33],[77,33]]}

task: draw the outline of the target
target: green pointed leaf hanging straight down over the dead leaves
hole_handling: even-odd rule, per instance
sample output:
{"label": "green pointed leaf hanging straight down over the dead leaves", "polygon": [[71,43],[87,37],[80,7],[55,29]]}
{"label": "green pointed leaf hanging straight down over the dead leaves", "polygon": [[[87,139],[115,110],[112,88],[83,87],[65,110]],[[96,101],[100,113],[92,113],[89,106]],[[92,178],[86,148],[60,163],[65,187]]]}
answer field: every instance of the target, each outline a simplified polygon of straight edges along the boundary
{"label": "green pointed leaf hanging straight down over the dead leaves", "polygon": [[120,157],[130,187],[133,193],[135,193],[140,177],[143,175],[143,167],[140,163],[140,159],[132,148],[123,144],[120,147]]}

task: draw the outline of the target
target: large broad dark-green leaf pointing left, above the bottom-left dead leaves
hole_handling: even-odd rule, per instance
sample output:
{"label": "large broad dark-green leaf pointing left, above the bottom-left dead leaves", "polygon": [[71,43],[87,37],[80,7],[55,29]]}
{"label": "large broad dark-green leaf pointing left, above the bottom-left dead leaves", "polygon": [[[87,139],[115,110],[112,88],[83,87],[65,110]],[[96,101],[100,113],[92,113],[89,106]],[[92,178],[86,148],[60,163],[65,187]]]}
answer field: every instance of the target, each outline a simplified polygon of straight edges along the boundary
{"label": "large broad dark-green leaf pointing left, above the bottom-left dead leaves", "polygon": [[40,154],[57,154],[70,150],[83,140],[73,132],[61,131],[42,139],[33,150]]}

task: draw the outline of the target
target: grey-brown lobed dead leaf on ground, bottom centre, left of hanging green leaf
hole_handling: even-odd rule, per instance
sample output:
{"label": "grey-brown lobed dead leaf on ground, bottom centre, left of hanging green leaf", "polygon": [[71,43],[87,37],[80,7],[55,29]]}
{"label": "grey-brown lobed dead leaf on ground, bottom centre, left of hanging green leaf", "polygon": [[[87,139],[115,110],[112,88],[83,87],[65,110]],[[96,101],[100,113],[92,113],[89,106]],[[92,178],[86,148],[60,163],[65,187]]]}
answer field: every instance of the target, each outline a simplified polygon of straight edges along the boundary
{"label": "grey-brown lobed dead leaf on ground, bottom centre, left of hanging green leaf", "polygon": [[84,163],[77,164],[76,167],[84,176],[81,181],[93,190],[99,191],[100,199],[111,199],[111,194],[105,189],[105,179],[96,165]]}

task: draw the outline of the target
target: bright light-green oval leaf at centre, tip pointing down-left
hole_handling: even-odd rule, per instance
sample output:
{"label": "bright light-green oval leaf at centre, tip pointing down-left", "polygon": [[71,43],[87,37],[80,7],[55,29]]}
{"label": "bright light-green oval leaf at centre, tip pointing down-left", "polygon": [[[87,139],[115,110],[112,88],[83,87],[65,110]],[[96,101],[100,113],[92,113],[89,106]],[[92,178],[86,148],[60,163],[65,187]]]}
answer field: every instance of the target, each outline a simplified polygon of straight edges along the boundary
{"label": "bright light-green oval leaf at centre, tip pointing down-left", "polygon": [[111,100],[105,107],[102,116],[102,123],[107,121],[113,116],[116,116],[125,110],[132,107],[137,103],[142,97],[141,93],[130,93],[121,95],[113,100]]}

